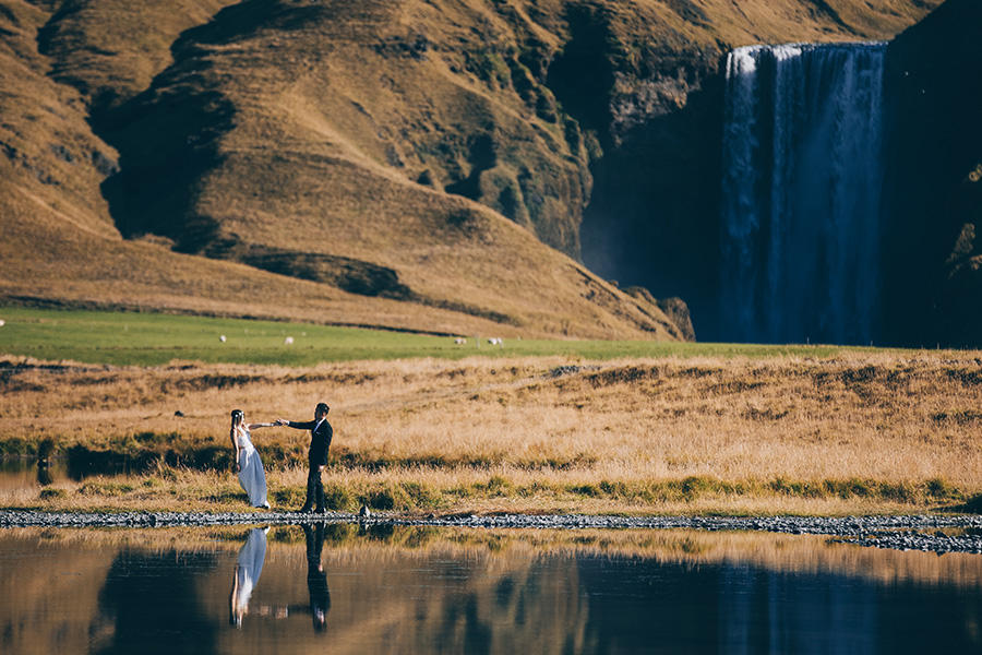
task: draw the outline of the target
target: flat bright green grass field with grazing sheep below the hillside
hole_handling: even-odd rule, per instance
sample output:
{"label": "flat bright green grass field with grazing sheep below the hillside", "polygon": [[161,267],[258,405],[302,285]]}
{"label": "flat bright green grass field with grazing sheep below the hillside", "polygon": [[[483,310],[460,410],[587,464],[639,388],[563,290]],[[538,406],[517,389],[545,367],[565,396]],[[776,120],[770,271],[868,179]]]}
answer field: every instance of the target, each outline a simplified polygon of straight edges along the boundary
{"label": "flat bright green grass field with grazing sheep below the hillside", "polygon": [[[572,356],[587,360],[621,357],[824,357],[842,346],[766,346],[652,341],[516,340],[502,345],[488,336],[454,338],[357,327],[215,319],[158,313],[0,308],[0,353],[47,361],[115,366],[161,366],[175,360],[203,364],[315,366],[367,359],[469,356]],[[225,342],[221,341],[225,336]],[[292,338],[287,344],[287,337]],[[855,348],[850,348],[855,349]]]}

